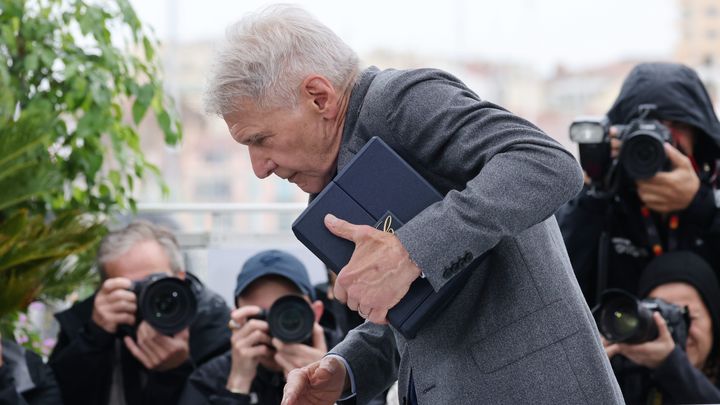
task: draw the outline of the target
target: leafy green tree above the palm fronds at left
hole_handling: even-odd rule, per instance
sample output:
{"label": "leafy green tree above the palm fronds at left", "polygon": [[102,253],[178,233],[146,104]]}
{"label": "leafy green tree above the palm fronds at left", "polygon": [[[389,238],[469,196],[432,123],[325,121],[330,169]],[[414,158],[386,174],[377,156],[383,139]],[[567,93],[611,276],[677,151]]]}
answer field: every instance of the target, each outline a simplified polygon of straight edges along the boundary
{"label": "leafy green tree above the palm fronds at left", "polygon": [[127,0],[0,0],[0,117],[36,103],[50,113],[44,131],[65,186],[43,195],[48,207],[134,208],[137,180],[159,175],[137,125],[152,110],[168,145],[181,132],[155,47]]}

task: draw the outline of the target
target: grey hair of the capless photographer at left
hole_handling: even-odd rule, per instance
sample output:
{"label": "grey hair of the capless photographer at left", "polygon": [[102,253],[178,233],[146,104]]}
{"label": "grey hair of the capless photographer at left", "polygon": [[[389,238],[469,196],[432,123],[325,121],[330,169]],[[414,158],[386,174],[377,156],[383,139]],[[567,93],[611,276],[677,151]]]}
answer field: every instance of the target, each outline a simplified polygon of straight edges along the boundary
{"label": "grey hair of the capless photographer at left", "polygon": [[148,221],[136,220],[117,231],[105,235],[100,242],[97,254],[97,264],[100,275],[105,278],[105,264],[117,260],[140,242],[155,241],[167,254],[170,261],[170,270],[173,274],[185,271],[180,246],[175,235],[167,228],[155,225]]}

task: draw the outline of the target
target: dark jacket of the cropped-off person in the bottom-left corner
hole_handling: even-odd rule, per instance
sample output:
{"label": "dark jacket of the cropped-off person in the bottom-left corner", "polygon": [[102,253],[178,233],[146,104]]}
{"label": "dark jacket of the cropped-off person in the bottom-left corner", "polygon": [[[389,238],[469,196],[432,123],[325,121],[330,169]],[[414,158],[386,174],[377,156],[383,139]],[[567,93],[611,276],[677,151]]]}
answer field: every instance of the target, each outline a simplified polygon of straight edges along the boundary
{"label": "dark jacket of the cropped-off person in the bottom-left corner", "polygon": [[37,354],[3,339],[0,405],[62,405],[52,370]]}

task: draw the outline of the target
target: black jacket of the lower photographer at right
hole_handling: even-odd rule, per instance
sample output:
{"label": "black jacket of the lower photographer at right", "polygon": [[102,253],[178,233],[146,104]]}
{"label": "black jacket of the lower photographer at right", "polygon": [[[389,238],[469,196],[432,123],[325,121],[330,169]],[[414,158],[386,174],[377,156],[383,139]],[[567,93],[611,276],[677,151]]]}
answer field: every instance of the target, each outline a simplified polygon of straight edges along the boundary
{"label": "black jacket of the lower photographer at right", "polygon": [[612,365],[628,405],[720,403],[720,388],[693,367],[678,346],[654,370],[622,356],[613,358]]}

